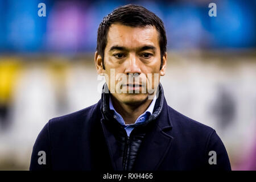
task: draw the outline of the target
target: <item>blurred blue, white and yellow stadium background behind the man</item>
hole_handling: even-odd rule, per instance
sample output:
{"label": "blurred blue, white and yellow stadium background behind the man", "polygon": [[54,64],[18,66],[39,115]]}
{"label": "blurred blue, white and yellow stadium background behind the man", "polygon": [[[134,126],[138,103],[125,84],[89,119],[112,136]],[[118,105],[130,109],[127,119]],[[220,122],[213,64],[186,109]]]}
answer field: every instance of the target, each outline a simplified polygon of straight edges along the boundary
{"label": "blurred blue, white and yellow stadium background behind the man", "polygon": [[128,3],[166,26],[168,104],[217,131],[232,169],[256,169],[255,1],[0,0],[0,170],[27,170],[49,119],[100,99],[98,24]]}

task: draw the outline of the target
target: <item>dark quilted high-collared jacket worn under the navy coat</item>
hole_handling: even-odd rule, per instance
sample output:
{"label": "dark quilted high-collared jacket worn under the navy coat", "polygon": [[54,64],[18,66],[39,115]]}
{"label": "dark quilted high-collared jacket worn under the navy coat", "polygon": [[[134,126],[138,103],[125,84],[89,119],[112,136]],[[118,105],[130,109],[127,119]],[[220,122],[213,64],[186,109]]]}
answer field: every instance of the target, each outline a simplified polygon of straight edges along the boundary
{"label": "dark quilted high-collared jacket worn under the navy coat", "polygon": [[156,101],[152,117],[148,118],[148,121],[145,121],[141,126],[135,127],[131,132],[130,137],[127,137],[125,129],[123,129],[123,126],[114,119],[114,113],[109,109],[110,94],[102,94],[101,110],[104,114],[104,118],[109,124],[109,129],[112,130],[112,134],[118,141],[118,147],[121,151],[119,155],[122,160],[123,170],[125,171],[130,171],[133,168],[137,152],[141,146],[144,135],[146,135],[147,127],[150,127],[149,123],[154,122],[155,118],[157,118],[162,111],[164,100],[162,93],[162,85],[159,84],[158,100]]}

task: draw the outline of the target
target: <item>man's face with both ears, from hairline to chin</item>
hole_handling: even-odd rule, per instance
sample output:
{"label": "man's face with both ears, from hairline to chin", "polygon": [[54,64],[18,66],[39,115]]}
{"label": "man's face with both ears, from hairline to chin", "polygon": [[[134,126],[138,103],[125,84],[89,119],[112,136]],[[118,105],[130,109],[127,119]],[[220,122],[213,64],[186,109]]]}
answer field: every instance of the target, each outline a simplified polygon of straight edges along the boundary
{"label": "man's face with both ears, from hairline to chin", "polygon": [[[146,101],[150,94],[154,94],[148,93],[147,88],[155,90],[160,76],[165,74],[166,69],[166,54],[163,56],[163,66],[160,69],[158,31],[153,26],[130,27],[112,24],[107,42],[104,53],[105,70],[102,68],[101,56],[97,52],[95,60],[98,73],[104,73],[110,92],[123,104],[132,105]],[[118,89],[122,92],[117,93]]]}

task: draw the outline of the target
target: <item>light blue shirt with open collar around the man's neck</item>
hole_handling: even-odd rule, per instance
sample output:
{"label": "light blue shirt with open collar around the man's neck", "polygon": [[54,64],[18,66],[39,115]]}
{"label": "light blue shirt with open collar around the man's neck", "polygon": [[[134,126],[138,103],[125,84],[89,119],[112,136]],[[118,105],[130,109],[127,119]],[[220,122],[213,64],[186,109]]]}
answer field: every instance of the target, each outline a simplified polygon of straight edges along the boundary
{"label": "light blue shirt with open collar around the man's neck", "polygon": [[127,136],[130,137],[130,133],[131,131],[133,131],[133,129],[142,124],[143,122],[147,121],[147,119],[150,117],[150,115],[153,113],[154,110],[154,106],[155,106],[155,101],[156,101],[156,96],[154,97],[154,99],[152,100],[150,106],[148,106],[147,110],[144,111],[143,114],[141,114],[137,120],[135,121],[134,124],[130,124],[130,125],[126,125],[125,121],[123,121],[122,116],[117,113],[117,111],[115,111],[114,106],[112,104],[112,100],[111,97],[109,97],[109,109],[110,110],[114,110],[114,118],[117,119],[117,121],[125,128]]}

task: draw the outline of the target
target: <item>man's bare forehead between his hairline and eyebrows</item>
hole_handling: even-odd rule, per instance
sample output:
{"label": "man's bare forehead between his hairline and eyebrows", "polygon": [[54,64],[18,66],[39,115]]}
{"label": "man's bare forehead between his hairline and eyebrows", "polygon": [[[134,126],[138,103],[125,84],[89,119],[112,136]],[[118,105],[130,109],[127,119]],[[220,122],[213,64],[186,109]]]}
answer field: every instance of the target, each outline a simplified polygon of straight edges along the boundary
{"label": "man's bare forehead between his hairline and eyebrows", "polygon": [[110,26],[106,49],[112,46],[135,49],[145,45],[159,48],[158,31],[154,26],[130,27],[123,24]]}

